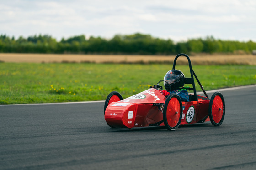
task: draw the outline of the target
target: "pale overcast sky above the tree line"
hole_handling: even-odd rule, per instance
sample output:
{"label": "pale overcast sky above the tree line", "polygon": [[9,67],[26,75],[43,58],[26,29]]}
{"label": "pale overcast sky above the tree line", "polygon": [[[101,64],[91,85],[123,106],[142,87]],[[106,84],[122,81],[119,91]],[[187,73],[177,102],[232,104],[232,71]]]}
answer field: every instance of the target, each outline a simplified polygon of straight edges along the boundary
{"label": "pale overcast sky above the tree line", "polygon": [[0,34],[256,41],[256,0],[0,0]]}

